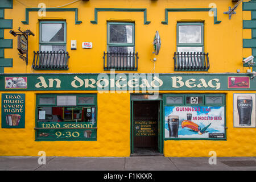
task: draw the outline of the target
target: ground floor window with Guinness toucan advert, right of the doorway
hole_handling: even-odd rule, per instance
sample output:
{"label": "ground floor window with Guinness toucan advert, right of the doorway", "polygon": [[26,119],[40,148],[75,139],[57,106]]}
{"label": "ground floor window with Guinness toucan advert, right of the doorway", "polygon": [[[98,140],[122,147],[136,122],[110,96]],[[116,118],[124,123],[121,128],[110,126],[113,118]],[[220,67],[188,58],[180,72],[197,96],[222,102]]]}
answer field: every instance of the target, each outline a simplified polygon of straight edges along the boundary
{"label": "ground floor window with Guinness toucan advert, right of the doorway", "polygon": [[165,94],[164,139],[225,140],[225,94]]}

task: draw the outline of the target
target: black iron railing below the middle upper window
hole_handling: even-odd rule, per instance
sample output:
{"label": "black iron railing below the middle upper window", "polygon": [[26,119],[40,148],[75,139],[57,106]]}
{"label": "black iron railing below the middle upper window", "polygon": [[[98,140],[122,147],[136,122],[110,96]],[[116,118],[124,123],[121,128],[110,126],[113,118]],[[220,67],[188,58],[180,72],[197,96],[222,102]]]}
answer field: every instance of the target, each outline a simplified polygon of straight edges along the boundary
{"label": "black iron railing below the middle upper window", "polygon": [[137,71],[138,52],[114,53],[104,52],[104,70]]}

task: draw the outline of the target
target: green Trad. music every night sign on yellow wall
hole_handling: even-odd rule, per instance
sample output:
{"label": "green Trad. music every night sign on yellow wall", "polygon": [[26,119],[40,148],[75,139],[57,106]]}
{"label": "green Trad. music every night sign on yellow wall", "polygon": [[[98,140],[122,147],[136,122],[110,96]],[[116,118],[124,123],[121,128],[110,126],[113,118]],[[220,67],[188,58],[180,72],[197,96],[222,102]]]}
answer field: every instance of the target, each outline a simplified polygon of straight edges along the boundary
{"label": "green Trad. music every night sign on yellow wall", "polygon": [[25,127],[25,94],[2,93],[2,128]]}

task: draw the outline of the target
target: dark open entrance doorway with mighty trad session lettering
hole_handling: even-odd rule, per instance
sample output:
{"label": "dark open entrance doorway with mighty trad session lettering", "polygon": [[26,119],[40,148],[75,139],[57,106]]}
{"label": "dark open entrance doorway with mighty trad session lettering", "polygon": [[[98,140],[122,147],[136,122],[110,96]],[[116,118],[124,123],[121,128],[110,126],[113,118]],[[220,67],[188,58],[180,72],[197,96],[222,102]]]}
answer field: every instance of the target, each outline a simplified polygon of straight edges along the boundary
{"label": "dark open entrance doorway with mighty trad session lettering", "polygon": [[148,156],[162,153],[161,102],[132,102],[133,155]]}

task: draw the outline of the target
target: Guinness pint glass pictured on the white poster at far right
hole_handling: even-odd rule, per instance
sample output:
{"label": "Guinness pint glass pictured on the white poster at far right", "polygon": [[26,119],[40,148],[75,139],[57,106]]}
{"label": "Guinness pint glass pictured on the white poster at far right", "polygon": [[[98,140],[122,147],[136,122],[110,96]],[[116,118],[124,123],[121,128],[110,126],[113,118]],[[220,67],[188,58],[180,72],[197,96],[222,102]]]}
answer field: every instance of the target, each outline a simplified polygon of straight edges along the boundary
{"label": "Guinness pint glass pictured on the white poster at far right", "polygon": [[237,110],[239,115],[239,125],[251,125],[251,111],[253,110],[253,98],[250,95],[237,97]]}

